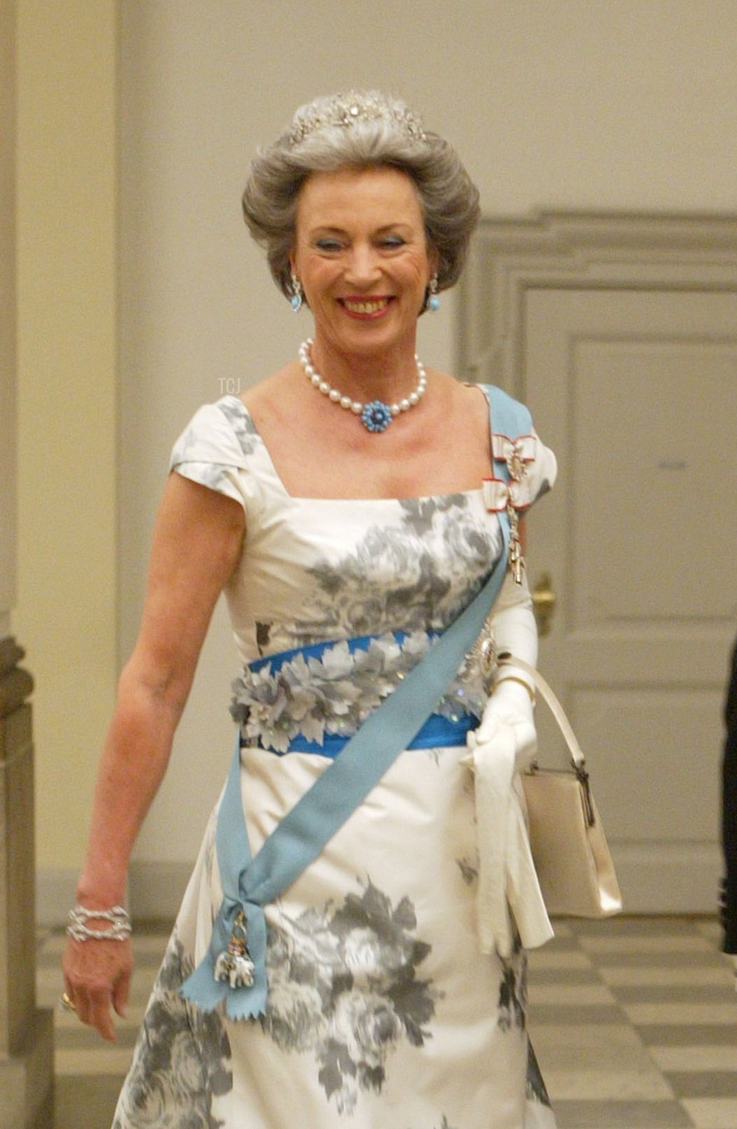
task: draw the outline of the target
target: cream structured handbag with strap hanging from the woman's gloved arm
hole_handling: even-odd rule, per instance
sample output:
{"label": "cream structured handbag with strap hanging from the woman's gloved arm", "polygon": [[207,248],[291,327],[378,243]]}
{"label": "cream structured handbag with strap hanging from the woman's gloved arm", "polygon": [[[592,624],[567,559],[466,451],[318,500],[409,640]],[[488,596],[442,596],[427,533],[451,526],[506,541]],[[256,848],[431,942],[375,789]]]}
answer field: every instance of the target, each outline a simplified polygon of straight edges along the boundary
{"label": "cream structured handbag with strap hanging from the woman's gloved arm", "polygon": [[618,913],[622,894],[591,794],[586,759],[563,707],[545,679],[529,664],[500,656],[533,679],[560,726],[571,754],[568,769],[539,768],[521,773],[529,844],[547,912],[603,918]]}

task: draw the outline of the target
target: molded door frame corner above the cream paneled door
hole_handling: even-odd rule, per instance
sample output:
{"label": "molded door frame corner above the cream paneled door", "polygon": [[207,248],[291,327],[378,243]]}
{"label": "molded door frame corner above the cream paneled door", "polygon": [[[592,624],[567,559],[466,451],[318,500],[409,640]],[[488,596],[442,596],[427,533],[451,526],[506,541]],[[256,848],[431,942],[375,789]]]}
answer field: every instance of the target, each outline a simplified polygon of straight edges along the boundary
{"label": "molded door frame corner above the cream paneled door", "polygon": [[456,309],[456,371],[525,399],[528,288],[737,290],[737,213],[539,211],[481,220]]}

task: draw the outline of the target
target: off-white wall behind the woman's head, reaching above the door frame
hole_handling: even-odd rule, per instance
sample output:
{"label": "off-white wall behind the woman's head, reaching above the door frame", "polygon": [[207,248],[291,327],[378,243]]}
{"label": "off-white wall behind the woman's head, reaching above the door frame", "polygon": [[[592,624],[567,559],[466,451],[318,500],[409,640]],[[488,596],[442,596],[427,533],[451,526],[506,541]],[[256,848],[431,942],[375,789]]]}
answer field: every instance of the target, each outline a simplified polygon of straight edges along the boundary
{"label": "off-white wall behind the woman's head, reaching above the door frame", "polygon": [[[249,245],[251,154],[296,105],[402,94],[449,137],[486,213],[729,210],[736,0],[122,0],[122,655],[132,645],[168,450],[221,382],[293,356],[295,318]],[[453,296],[420,355],[453,367]],[[230,754],[235,654],[205,647],[138,858],[192,858]]]}

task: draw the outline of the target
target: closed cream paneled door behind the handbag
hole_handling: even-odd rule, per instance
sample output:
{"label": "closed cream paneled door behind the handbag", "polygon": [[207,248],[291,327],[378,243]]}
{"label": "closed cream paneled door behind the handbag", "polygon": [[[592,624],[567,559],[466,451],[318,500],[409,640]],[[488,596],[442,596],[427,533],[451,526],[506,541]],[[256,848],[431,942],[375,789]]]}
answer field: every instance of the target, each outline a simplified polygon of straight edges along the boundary
{"label": "closed cream paneled door behind the handbag", "polygon": [[518,384],[560,466],[530,517],[530,584],[547,574],[556,601],[541,668],[587,752],[626,908],[713,911],[737,292],[529,286],[523,307]]}

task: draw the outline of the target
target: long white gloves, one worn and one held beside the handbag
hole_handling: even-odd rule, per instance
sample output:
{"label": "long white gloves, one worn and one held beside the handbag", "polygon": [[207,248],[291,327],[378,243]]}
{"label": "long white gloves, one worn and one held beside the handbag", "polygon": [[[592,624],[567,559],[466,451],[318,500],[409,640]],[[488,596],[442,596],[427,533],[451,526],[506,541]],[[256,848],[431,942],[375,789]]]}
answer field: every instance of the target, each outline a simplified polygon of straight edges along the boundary
{"label": "long white gloves, one worn and one held beside the handbag", "polygon": [[[507,575],[491,628],[499,654],[509,651],[535,665],[537,629],[525,579],[518,585]],[[510,907],[526,948],[553,936],[516,790],[517,773],[529,765],[537,749],[533,688],[524,672],[514,665],[501,667],[481,724],[466,739],[465,763],[475,776],[481,948],[506,957],[514,944]]]}

